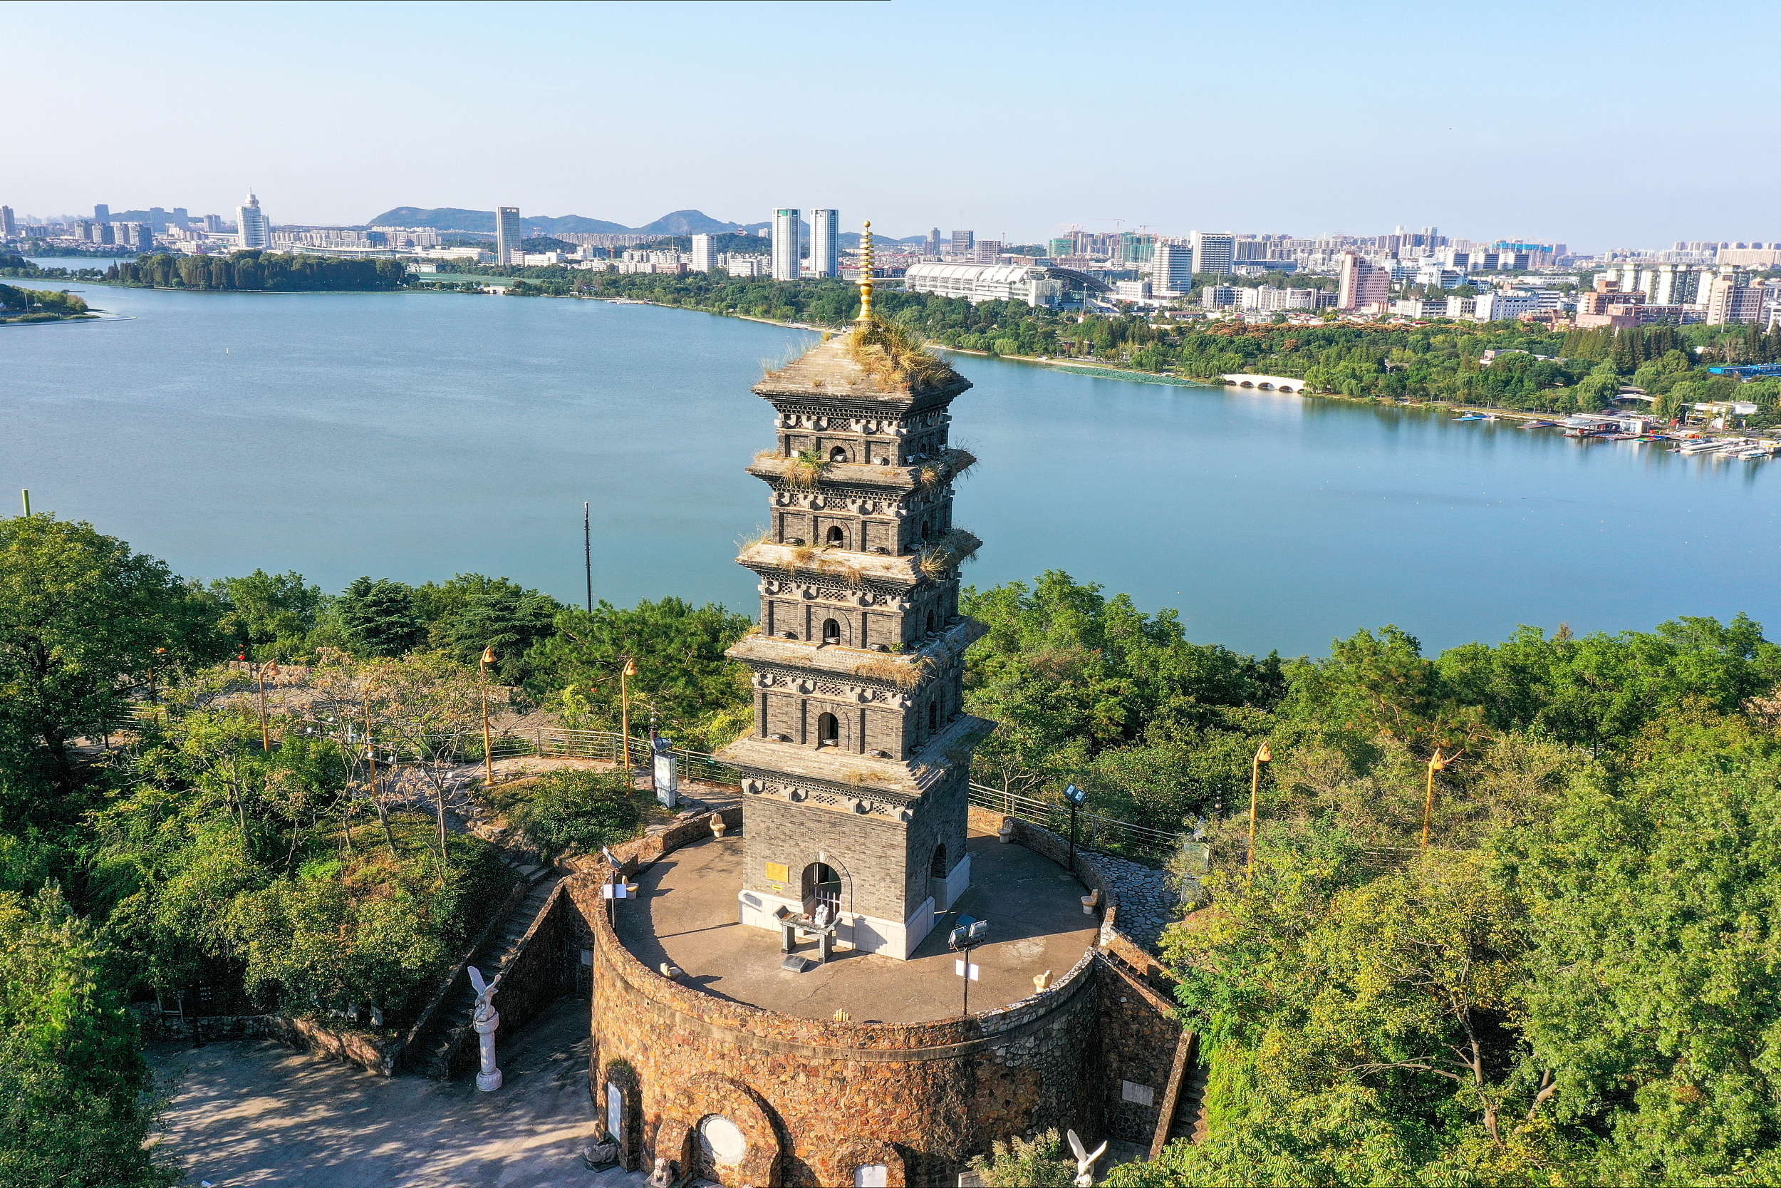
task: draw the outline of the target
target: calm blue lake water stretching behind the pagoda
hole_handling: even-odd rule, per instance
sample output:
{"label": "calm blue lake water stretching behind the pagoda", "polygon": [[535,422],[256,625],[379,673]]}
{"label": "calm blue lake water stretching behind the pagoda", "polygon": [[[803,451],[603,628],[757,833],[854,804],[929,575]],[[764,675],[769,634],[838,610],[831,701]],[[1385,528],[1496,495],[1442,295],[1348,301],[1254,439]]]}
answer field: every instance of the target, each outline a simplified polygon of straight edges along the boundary
{"label": "calm blue lake water stretching behind the pagoda", "polygon": [[[579,602],[591,500],[595,597],[753,609],[734,556],[766,522],[743,467],[773,413],[748,387],[812,335],[598,301],[84,292],[134,321],[0,328],[0,490],[36,509],[191,577],[483,572]],[[1781,461],[955,363],[978,586],[1061,568],[1247,652],[1738,611],[1781,634]]]}

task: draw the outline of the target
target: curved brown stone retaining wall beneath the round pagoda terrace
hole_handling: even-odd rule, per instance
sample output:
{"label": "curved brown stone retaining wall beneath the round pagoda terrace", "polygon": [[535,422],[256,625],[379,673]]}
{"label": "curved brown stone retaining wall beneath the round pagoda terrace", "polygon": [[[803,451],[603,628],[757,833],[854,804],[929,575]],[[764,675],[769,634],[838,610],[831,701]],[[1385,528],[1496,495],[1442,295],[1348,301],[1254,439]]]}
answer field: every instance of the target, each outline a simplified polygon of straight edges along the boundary
{"label": "curved brown stone retaining wall beneath the round pagoda terrace", "polygon": [[[1101,1129],[1101,1083],[1083,1076],[1101,1031],[1092,953],[1051,990],[971,1019],[798,1019],[661,978],[618,944],[593,880],[565,885],[597,939],[590,1072],[602,1111],[607,1070],[636,1074],[632,1165],[650,1165],[657,1138],[663,1154],[679,1158],[687,1129],[718,1111],[702,1104],[714,1101],[711,1078],[771,1122],[775,1177],[750,1181],[759,1188],[851,1183],[853,1167],[837,1160],[858,1145],[896,1154],[892,1183],[940,1184],[996,1138],[1049,1126]],[[755,1138],[766,1142],[764,1133]],[[837,1154],[837,1138],[848,1151]]]}

